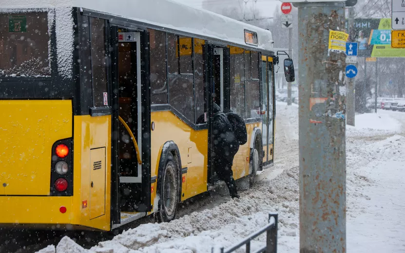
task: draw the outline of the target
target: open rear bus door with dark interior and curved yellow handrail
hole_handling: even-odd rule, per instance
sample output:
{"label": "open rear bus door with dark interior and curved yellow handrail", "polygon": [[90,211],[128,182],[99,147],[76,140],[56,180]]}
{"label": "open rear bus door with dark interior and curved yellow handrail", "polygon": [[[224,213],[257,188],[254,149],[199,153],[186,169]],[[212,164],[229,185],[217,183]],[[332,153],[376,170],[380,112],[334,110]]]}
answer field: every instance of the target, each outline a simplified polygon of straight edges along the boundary
{"label": "open rear bus door with dark interior and curved yellow handrail", "polygon": [[113,26],[113,223],[151,210],[149,34]]}

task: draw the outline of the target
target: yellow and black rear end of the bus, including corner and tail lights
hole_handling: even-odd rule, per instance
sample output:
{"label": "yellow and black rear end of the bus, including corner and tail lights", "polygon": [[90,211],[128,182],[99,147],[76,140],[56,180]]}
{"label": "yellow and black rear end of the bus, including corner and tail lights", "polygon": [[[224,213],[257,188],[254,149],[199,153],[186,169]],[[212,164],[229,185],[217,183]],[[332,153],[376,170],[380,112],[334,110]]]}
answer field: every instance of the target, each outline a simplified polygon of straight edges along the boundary
{"label": "yellow and black rear end of the bus, including corner and tail lights", "polygon": [[76,8],[3,7],[0,227],[110,230],[105,20],[78,42]]}

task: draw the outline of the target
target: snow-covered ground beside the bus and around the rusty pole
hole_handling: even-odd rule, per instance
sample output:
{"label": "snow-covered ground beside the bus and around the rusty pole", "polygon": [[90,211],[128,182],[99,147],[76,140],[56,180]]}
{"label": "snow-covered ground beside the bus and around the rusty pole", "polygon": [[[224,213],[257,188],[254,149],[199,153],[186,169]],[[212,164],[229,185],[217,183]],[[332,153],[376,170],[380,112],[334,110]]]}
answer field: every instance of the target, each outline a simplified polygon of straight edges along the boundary
{"label": "snow-covered ground beside the bus and around the rusty pole", "polygon": [[[139,225],[90,250],[64,237],[57,253],[209,253],[265,226],[269,212],[279,215],[278,251],[298,252],[298,107],[277,102],[276,115],[275,165],[240,199],[213,193],[170,223]],[[405,252],[404,127],[405,113],[391,111],[357,115],[356,127],[347,127],[348,252]],[[264,241],[254,240],[252,250]]]}

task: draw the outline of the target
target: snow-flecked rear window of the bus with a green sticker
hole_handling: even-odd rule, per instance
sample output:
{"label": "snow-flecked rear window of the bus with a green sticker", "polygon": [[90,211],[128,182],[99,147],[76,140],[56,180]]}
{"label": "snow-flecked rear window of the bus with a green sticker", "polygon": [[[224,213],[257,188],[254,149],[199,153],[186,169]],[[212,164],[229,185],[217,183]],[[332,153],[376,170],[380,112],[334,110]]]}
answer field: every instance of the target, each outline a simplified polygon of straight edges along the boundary
{"label": "snow-flecked rear window of the bus with a green sticker", "polygon": [[0,77],[50,76],[48,14],[0,14]]}

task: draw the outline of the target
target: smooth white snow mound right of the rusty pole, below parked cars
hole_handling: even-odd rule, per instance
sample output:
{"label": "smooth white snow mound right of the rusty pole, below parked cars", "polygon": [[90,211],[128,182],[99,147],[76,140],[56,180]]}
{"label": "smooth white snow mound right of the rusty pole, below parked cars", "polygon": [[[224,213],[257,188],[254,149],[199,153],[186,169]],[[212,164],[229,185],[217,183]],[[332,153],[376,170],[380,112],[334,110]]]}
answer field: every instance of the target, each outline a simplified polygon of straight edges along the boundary
{"label": "smooth white snow mound right of the rusty pole, below parked cars", "polygon": [[347,136],[375,136],[401,131],[401,124],[386,113],[364,113],[355,116],[355,127],[346,126]]}

